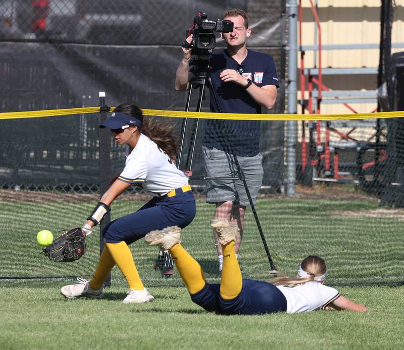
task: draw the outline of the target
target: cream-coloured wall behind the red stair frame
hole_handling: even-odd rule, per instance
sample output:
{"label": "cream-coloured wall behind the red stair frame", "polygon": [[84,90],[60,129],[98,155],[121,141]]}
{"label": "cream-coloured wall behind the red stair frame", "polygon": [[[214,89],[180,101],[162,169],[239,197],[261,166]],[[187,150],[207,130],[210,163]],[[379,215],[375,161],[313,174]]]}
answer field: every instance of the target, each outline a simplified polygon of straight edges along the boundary
{"label": "cream-coloured wall behind the red stair frame", "polygon": [[[392,43],[404,43],[404,0],[396,0],[395,5],[391,33]],[[310,2],[302,0],[302,6],[302,45],[313,45],[316,24]],[[318,7],[323,45],[378,44],[380,41],[380,6],[380,0],[320,0]],[[404,51],[404,47],[391,50],[392,53],[400,51]],[[318,52],[306,51],[305,68],[318,67],[318,58]],[[300,60],[298,60],[298,65],[300,65]],[[375,68],[378,65],[379,49],[322,51],[323,68]],[[375,90],[377,76],[323,76],[323,82],[332,90]],[[307,97],[306,92],[305,98]],[[370,112],[376,107],[376,103],[356,103],[351,106],[358,112]],[[346,113],[348,111],[342,104],[322,104],[321,106],[323,113]]]}

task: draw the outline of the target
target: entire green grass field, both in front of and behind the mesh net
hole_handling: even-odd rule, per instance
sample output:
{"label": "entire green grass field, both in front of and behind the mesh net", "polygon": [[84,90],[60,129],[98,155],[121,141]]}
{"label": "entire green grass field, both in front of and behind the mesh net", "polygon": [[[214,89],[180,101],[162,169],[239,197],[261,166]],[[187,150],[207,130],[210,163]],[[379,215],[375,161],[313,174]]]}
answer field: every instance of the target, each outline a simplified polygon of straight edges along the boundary
{"label": "entire green grass field, both in front of and behind the mesh net", "polygon": [[[27,193],[27,200],[31,195]],[[116,201],[113,218],[141,204]],[[328,265],[327,282],[348,298],[366,304],[368,313],[227,317],[193,304],[177,272],[163,279],[153,269],[157,249],[142,241],[131,249],[144,284],[156,298],[153,303],[122,304],[127,286],[117,268],[103,300],[65,300],[60,287],[74,283],[76,276],[89,278],[93,272],[99,253],[98,232],[87,238],[84,257],[68,264],[57,264],[41,255],[36,232],[78,225],[93,206],[91,201],[0,202],[2,348],[400,348],[404,343],[404,289],[387,284],[404,280],[400,218],[341,214],[357,210],[372,213],[379,208],[374,200],[257,201],[278,269],[295,274],[302,258],[318,254]],[[209,228],[213,210],[198,201],[197,217],[182,237],[184,247],[200,262],[209,281],[218,281]],[[268,259],[250,211],[239,260],[247,276],[267,278]]]}

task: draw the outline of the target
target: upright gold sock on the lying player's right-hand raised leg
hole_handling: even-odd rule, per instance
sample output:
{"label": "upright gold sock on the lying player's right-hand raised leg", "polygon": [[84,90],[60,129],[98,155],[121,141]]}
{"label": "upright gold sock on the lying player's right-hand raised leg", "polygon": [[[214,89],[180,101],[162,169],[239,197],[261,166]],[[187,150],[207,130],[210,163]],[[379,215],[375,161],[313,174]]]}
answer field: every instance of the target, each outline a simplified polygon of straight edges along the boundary
{"label": "upright gold sock on the lying player's right-hand raised leg", "polygon": [[234,299],[240,294],[243,279],[238,265],[234,242],[230,242],[223,249],[222,280],[220,295],[223,299]]}

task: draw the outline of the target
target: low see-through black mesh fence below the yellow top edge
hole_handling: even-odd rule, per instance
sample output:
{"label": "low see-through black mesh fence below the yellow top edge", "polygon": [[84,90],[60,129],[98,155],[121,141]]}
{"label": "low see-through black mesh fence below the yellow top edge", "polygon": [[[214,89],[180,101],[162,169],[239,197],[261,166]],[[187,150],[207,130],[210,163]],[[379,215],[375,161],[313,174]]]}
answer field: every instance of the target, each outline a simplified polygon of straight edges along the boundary
{"label": "low see-through black mesh fence below the yellow top edge", "polygon": [[[177,120],[155,118],[170,123]],[[200,120],[201,125],[204,122]],[[19,130],[24,130],[29,123],[38,127],[37,132],[20,133]],[[342,126],[346,122],[334,123]],[[47,132],[43,132],[44,124],[49,127]],[[73,281],[76,276],[89,278],[93,273],[99,257],[98,228],[86,240],[88,249],[84,257],[66,264],[54,263],[40,254],[36,232],[50,229],[56,235],[62,229],[82,224],[99,200],[98,188],[86,184],[99,184],[100,172],[106,173],[106,169],[100,169],[97,125],[97,113],[0,121],[0,130],[10,128],[9,132],[14,135],[15,141],[10,144],[1,138],[2,159],[9,159],[9,162],[2,161],[0,176],[3,183],[8,184],[16,184],[13,177],[18,176],[18,184],[21,184],[0,190],[2,285],[22,281],[29,281],[33,285],[60,285]],[[71,131],[73,129],[75,131]],[[96,141],[84,142],[85,132],[88,139],[92,133]],[[180,132],[180,128],[175,131],[177,135]],[[367,135],[370,137],[373,132],[368,130]],[[111,148],[107,153],[110,161],[107,177],[112,177],[123,168],[125,156],[123,147],[116,146],[110,134],[106,135],[107,145]],[[185,139],[187,143],[191,136]],[[51,147],[54,144],[58,145],[55,149]],[[260,146],[263,145],[265,142],[261,142]],[[188,156],[187,152],[188,146],[183,154],[184,159]],[[201,153],[201,141],[198,139],[194,148],[196,166],[192,167],[193,174],[189,180],[195,190],[197,214],[183,230],[182,239],[183,246],[199,261],[207,278],[218,281],[219,264],[209,225],[215,206],[206,203],[203,190],[205,181],[200,180],[205,176]],[[370,168],[374,165],[375,154],[374,149],[368,149],[362,156],[361,167],[365,177],[374,176]],[[341,162],[347,160],[341,159]],[[379,154],[379,160],[380,163],[385,162],[383,154]],[[18,168],[15,164],[18,164]],[[218,173],[222,166],[217,165]],[[282,172],[283,166],[283,163],[278,164],[272,170]],[[268,277],[270,263],[265,250],[267,244],[275,266],[286,274],[295,274],[300,259],[317,254],[327,262],[329,283],[403,281],[401,226],[404,210],[381,207],[380,199],[371,191],[372,186],[379,186],[377,182],[368,181],[368,188],[357,186],[358,167],[351,164],[350,170],[346,168],[340,171],[340,176],[348,171],[351,182],[347,181],[346,176],[345,184],[315,182],[312,187],[297,185],[293,198],[282,193],[261,191],[255,209],[263,236],[260,235],[253,212],[250,208],[246,210],[244,235],[238,255],[245,276],[264,280]],[[41,183],[49,185],[46,187]],[[400,192],[396,192],[396,195],[400,196]],[[137,210],[149,199],[142,192],[128,190],[113,203],[111,219]],[[170,278],[156,268],[156,248],[146,246],[143,240],[130,247],[146,285],[182,283],[175,268]],[[21,252],[24,252],[24,259],[21,259]],[[124,283],[117,268],[112,272],[112,283]]]}

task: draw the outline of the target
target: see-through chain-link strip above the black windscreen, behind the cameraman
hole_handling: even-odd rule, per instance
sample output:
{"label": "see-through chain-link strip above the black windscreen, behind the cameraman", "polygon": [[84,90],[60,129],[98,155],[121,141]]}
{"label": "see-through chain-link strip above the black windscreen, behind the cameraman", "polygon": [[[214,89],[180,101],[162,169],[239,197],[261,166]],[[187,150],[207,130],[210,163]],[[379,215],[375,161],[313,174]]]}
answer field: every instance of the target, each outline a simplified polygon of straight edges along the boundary
{"label": "see-through chain-link strip above the black windscreen, behind the cameraman", "polygon": [[[271,41],[257,36],[250,46],[280,47],[283,33],[274,30],[284,11],[283,1],[250,2],[191,0],[4,0],[0,5],[0,39],[99,45],[178,45],[199,11],[208,19],[226,9],[246,11],[251,24]],[[272,29],[271,29],[272,28]]]}

